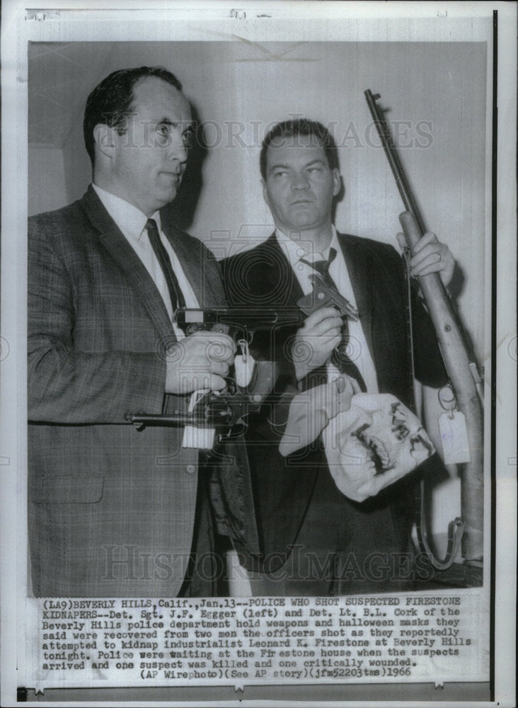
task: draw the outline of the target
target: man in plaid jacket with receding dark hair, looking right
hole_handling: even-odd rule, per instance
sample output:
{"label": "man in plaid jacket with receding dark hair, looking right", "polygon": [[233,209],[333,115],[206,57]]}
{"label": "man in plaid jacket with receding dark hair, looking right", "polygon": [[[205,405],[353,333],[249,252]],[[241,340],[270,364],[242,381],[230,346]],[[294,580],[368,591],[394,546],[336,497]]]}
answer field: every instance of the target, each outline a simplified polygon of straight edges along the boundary
{"label": "man in plaid jacket with receding dark hair, looking right", "polygon": [[[30,558],[37,596],[211,595],[216,530],[253,537],[248,467],[183,446],[184,428],[139,432],[125,413],[188,410],[222,389],[224,334],[183,337],[176,307],[224,302],[197,239],[161,222],[188,159],[190,106],[178,79],[110,74],[84,115],[93,184],[29,223]],[[200,444],[200,447],[202,445]],[[209,495],[214,508],[209,506]]]}

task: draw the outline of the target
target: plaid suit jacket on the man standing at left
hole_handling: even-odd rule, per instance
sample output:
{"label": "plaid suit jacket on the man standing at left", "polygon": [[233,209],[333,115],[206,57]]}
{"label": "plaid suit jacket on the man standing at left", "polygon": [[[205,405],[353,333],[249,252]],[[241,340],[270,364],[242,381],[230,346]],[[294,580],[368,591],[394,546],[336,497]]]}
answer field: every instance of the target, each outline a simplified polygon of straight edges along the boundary
{"label": "plaid suit jacket on the man standing at left", "polygon": [[[202,307],[224,302],[197,240],[164,228]],[[191,549],[198,452],[181,428],[137,431],[164,396],[175,335],[163,300],[92,188],[29,221],[29,529],[35,595],[175,596]],[[252,539],[248,467],[213,479],[219,530]],[[241,455],[241,457],[240,457]],[[208,474],[204,472],[204,474]]]}

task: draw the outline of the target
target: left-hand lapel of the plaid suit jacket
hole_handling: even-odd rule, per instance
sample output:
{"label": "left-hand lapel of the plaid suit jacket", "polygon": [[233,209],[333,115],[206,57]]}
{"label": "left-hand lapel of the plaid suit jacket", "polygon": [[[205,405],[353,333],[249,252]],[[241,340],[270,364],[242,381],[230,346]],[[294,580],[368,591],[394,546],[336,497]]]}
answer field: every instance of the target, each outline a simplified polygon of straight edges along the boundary
{"label": "left-hand lapel of the plaid suit jacket", "polygon": [[161,336],[167,336],[175,341],[173,325],[159,290],[137,253],[129,245],[124,234],[105,210],[103,202],[100,201],[91,186],[88,187],[86,195],[81,200],[81,208],[98,231],[99,239],[105,249],[131,282],[137,297],[154,322],[156,329],[159,330]]}

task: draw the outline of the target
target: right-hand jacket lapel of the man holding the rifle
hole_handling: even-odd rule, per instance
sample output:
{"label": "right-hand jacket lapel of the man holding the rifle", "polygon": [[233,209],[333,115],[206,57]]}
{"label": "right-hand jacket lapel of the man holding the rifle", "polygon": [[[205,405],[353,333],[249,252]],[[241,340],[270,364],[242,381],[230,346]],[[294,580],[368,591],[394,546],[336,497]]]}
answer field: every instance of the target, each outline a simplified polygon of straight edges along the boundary
{"label": "right-hand jacket lapel of the man holding the rifle", "polygon": [[359,320],[362,323],[367,346],[369,347],[377,371],[378,367],[374,353],[372,333],[372,281],[369,277],[369,273],[372,273],[372,261],[367,251],[361,248],[359,242],[353,241],[343,234],[338,234],[338,241],[340,242],[345,258],[345,265],[347,265],[347,273],[351,281],[352,292],[355,293]]}

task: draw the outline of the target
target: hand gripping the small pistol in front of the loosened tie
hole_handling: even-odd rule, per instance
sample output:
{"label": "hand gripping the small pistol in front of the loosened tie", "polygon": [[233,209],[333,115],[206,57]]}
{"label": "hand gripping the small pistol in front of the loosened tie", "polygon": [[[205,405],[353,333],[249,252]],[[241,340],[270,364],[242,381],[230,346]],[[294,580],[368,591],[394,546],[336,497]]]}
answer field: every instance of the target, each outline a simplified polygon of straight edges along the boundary
{"label": "hand gripping the small pistol in front of the loosened tie", "polygon": [[340,344],[343,321],[334,307],[322,307],[304,320],[292,348],[297,381],[324,364]]}

